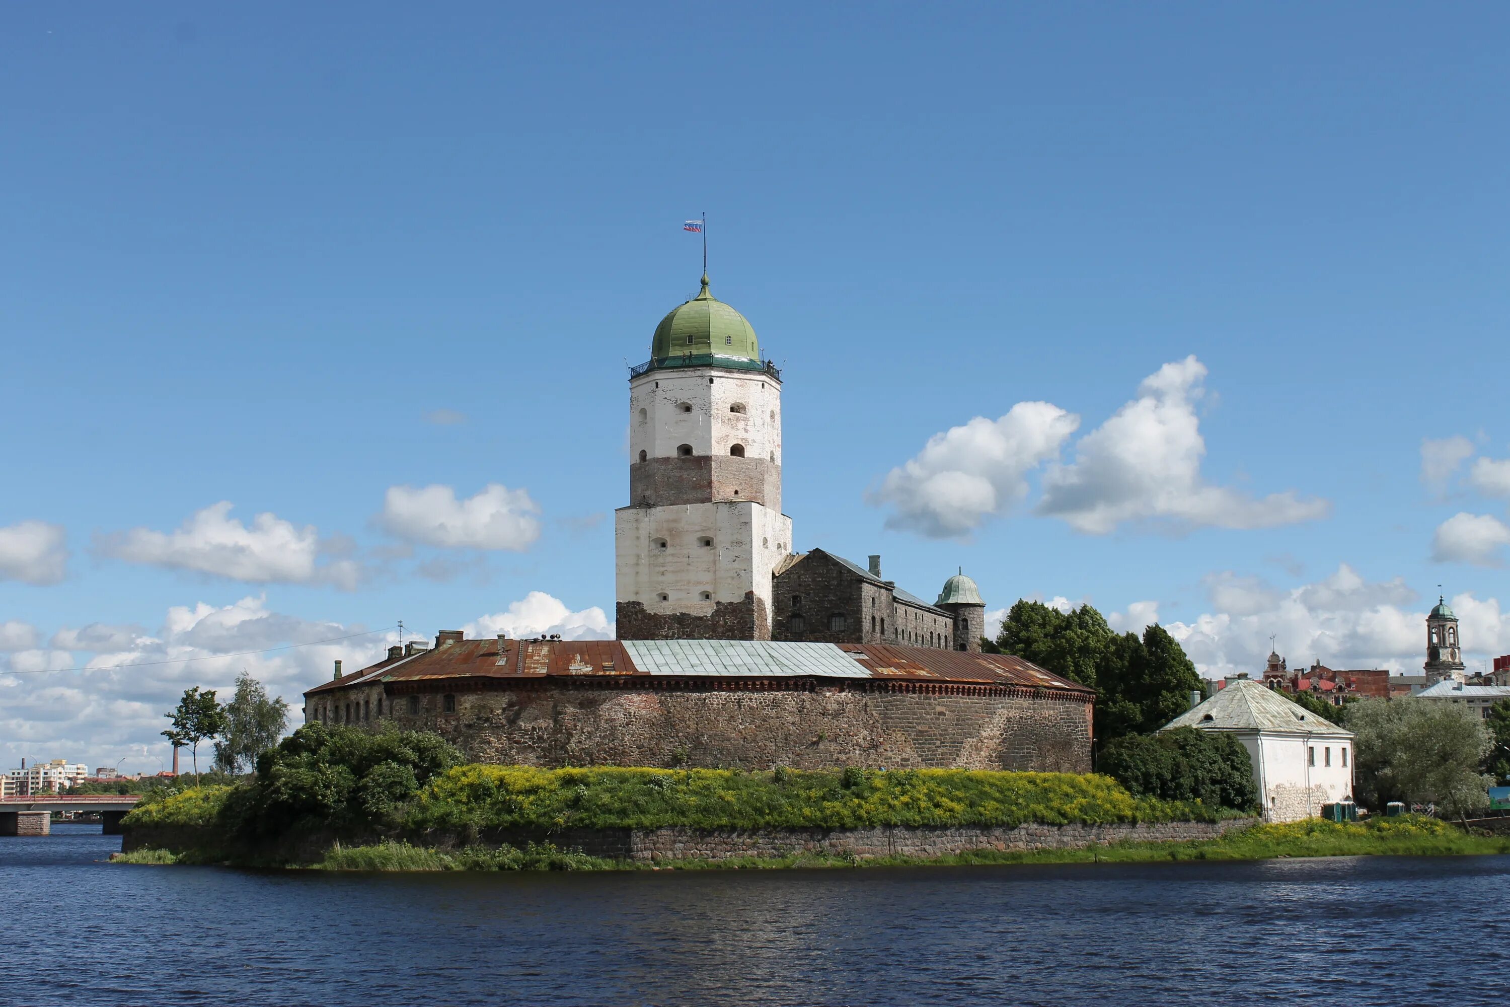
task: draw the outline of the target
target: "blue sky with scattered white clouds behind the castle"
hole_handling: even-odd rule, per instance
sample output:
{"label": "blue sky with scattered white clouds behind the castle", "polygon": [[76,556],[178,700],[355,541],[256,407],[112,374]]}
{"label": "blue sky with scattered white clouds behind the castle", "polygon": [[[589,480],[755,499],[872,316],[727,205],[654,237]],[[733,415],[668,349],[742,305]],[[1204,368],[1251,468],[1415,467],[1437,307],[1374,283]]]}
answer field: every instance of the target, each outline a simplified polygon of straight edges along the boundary
{"label": "blue sky with scattered white clouds behind the castle", "polygon": [[1157,616],[1208,673],[1418,664],[1438,583],[1507,652],[1507,27],[12,5],[0,758],[156,768],[184,685],[387,639],[240,651],[606,633],[625,364],[701,211],[800,550]]}

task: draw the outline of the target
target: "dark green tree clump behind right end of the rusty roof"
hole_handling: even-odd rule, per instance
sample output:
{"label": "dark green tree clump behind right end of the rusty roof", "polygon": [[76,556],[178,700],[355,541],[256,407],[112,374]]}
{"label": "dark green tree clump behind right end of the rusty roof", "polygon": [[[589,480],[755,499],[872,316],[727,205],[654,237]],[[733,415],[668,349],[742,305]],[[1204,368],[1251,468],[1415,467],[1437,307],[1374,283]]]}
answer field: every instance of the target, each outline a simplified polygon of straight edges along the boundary
{"label": "dark green tree clump behind right end of the rusty roof", "polygon": [[1158,625],[1113,633],[1090,605],[1060,611],[1039,601],[1012,605],[997,646],[1096,690],[1096,737],[1149,734],[1190,707],[1200,691],[1196,666]]}

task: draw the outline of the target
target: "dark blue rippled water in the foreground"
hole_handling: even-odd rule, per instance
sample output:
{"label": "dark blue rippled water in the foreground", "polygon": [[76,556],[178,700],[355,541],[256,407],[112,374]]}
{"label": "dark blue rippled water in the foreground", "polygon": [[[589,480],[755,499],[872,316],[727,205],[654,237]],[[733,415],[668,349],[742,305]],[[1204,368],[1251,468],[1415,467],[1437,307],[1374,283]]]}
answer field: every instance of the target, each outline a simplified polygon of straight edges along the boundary
{"label": "dark blue rippled water in the foreground", "polygon": [[764,873],[124,867],[0,838],[0,1004],[1498,1004],[1510,858]]}

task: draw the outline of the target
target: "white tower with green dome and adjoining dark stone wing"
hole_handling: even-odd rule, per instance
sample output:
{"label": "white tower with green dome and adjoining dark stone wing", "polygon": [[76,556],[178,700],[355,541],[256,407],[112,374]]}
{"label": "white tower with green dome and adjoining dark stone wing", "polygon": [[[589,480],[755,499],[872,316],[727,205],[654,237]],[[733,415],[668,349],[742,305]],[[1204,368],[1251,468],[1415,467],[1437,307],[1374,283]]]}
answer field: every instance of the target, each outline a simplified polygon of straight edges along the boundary
{"label": "white tower with green dome and adjoining dark stone wing", "polygon": [[781,512],[781,371],[707,276],[630,371],[630,503],[615,512],[615,551],[624,640],[980,649],[986,608],[968,577],[930,605],[882,580],[879,556],[862,569],[796,553]]}

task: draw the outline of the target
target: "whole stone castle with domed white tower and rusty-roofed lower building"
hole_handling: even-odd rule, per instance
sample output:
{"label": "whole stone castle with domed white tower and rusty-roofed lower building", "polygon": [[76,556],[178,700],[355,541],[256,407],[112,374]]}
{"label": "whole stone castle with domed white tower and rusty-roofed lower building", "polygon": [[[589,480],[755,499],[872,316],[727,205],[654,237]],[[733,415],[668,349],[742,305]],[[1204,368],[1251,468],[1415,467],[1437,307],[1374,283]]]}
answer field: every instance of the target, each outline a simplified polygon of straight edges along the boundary
{"label": "whole stone castle with domed white tower and rusty-roofed lower building", "polygon": [[1093,693],[982,654],[963,571],[932,604],[781,512],[781,371],[702,278],[630,370],[618,640],[406,643],[305,693],[305,720],[439,732],[527,765],[1087,771]]}

